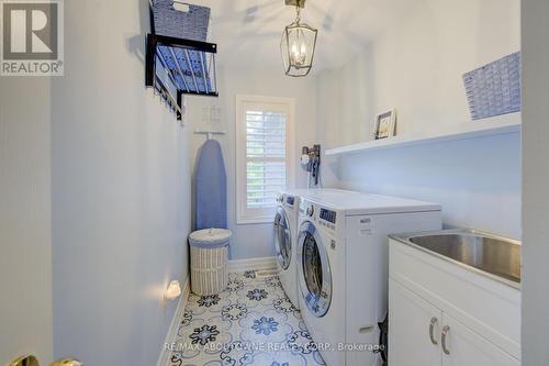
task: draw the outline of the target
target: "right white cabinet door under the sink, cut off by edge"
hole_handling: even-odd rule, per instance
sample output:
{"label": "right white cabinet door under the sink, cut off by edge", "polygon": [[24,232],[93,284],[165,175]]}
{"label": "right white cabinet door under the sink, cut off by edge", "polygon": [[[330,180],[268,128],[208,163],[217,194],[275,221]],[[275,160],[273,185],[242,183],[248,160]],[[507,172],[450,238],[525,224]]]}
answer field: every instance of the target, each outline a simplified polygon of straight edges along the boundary
{"label": "right white cabinet door under the sink, cut off by edge", "polygon": [[[519,366],[520,362],[461,322],[444,314],[442,366]],[[441,331],[441,332],[442,332]],[[449,354],[448,354],[449,353]]]}

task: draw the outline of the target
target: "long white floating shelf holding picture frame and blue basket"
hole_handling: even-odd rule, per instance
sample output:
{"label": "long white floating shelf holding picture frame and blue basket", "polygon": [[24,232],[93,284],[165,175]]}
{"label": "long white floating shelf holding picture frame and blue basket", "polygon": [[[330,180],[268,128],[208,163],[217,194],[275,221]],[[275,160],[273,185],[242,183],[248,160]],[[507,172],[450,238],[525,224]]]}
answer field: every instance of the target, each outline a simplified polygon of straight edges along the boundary
{"label": "long white floating shelf holding picture frame and blue basket", "polygon": [[382,148],[396,148],[404,146],[430,144],[444,141],[467,140],[483,136],[500,135],[520,132],[520,113],[493,117],[482,121],[462,123],[459,127],[446,131],[424,133],[423,135],[401,135],[382,140],[367,141],[363,143],[339,146],[326,151],[326,155],[346,155],[370,152]]}

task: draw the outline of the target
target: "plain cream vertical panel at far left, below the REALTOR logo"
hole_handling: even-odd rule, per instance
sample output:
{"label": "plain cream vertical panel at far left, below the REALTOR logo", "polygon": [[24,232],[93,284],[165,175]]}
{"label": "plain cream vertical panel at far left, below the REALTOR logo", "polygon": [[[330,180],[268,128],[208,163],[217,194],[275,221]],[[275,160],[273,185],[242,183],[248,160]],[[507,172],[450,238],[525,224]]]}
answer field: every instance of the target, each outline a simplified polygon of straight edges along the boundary
{"label": "plain cream vertical panel at far left, below the REALTOR logo", "polygon": [[47,78],[0,81],[0,365],[53,359]]}

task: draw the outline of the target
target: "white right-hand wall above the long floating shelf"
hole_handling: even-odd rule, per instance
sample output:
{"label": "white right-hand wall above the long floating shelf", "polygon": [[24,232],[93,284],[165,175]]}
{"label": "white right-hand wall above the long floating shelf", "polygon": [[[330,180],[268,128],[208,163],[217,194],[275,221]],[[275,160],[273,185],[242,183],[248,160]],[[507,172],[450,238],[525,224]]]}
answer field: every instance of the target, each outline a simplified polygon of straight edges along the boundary
{"label": "white right-hand wall above the long floating shelf", "polygon": [[397,109],[401,134],[469,121],[461,76],[519,51],[519,0],[414,1],[347,66],[321,74],[330,87],[339,80],[332,102],[337,127],[326,143],[371,138],[374,115],[391,108]]}

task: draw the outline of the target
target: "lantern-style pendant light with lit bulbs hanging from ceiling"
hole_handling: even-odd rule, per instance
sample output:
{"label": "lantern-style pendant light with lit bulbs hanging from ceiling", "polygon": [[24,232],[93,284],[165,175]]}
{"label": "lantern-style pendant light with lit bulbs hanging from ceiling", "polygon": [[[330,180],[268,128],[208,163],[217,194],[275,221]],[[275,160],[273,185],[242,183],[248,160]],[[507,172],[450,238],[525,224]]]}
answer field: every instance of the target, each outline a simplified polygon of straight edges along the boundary
{"label": "lantern-style pendant light with lit bulbs hanging from ceiling", "polygon": [[280,40],[284,74],[293,77],[307,76],[313,67],[317,31],[301,23],[300,13],[305,8],[305,0],[285,0],[285,4],[295,7],[296,18],[284,27]]}

